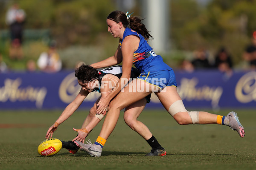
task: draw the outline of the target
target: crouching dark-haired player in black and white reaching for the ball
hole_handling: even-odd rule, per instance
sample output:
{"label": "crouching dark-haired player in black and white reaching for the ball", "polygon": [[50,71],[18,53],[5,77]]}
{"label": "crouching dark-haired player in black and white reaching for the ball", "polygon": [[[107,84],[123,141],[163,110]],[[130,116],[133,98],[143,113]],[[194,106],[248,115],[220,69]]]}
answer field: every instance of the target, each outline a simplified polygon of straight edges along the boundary
{"label": "crouching dark-haired player in black and white reaching for the ball", "polygon": [[[67,120],[76,110],[79,108],[84,99],[88,96],[88,94],[92,91],[98,91],[101,93],[101,97],[107,96],[109,91],[112,90],[113,87],[116,86],[119,78],[122,75],[122,66],[116,65],[113,67],[105,68],[101,71],[97,71],[95,68],[90,65],[81,65],[75,71],[75,76],[78,79],[79,85],[81,85],[81,90],[76,98],[71,102],[61,113],[61,116],[55,121],[55,123],[49,127],[47,131],[46,138],[52,138],[52,134],[55,130],[57,130],[58,125]],[[138,77],[140,72],[136,68],[131,69],[131,78]],[[73,141],[77,140],[79,142],[84,142],[87,134],[95,127],[100,120],[105,116],[103,114],[96,114],[96,105],[99,102],[99,99],[95,102],[93,107],[90,109],[90,112],[85,119],[81,129],[75,129],[78,132],[78,136],[73,139]],[[134,121],[129,117],[130,115],[136,115],[137,117],[145,108],[146,103],[150,101],[150,95],[145,98],[139,100],[138,102],[127,106],[124,112],[124,119],[126,124],[139,133],[151,146],[151,150],[154,150],[153,153],[148,153],[147,156],[163,156],[166,155],[166,151],[164,148],[157,142],[152,133],[149,131],[148,127],[146,127],[142,122],[137,121],[136,123],[140,124],[143,129],[136,129],[133,126]],[[88,125],[90,123],[90,125]],[[147,133],[144,133],[147,132]],[[153,137],[151,137],[153,136]],[[70,153],[76,153],[79,150],[79,147],[76,146],[72,141],[64,142],[62,141],[63,147],[68,149]]]}

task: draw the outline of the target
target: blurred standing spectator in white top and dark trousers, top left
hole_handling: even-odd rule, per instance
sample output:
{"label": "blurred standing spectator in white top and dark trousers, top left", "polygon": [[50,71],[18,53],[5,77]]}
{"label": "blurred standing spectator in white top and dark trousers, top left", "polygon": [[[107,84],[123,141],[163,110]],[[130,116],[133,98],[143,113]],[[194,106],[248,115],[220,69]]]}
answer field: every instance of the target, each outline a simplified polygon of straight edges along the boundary
{"label": "blurred standing spectator in white top and dark trousers, top left", "polygon": [[23,9],[19,8],[17,3],[9,8],[6,13],[6,24],[9,26],[11,34],[10,57],[12,59],[21,59],[23,57],[21,44],[23,35],[23,23],[25,18],[26,13]]}

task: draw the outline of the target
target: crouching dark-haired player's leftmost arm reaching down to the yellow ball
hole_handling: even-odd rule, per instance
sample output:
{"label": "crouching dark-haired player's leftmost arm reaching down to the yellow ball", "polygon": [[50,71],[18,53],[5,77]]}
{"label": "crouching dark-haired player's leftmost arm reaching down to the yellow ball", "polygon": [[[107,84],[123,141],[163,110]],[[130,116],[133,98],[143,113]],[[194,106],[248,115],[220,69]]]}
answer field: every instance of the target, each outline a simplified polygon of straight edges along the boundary
{"label": "crouching dark-haired player's leftmost arm reaching down to the yellow ball", "polygon": [[55,130],[57,130],[58,125],[63,123],[65,120],[67,120],[81,105],[81,103],[84,101],[84,99],[87,97],[89,92],[80,90],[79,94],[76,96],[76,98],[71,102],[67,107],[64,109],[64,111],[61,113],[61,116],[55,121],[55,123],[49,127],[45,138],[52,138],[52,134]]}

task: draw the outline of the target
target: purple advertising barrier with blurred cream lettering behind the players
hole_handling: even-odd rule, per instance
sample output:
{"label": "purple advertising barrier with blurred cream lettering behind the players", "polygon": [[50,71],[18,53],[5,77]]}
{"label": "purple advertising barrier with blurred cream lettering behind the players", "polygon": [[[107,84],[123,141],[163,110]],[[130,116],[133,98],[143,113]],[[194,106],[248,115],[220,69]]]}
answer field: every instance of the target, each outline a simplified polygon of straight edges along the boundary
{"label": "purple advertising barrier with blurred cream lettering behind the players", "polygon": [[[256,106],[255,71],[234,71],[231,75],[218,71],[175,71],[175,75],[177,91],[186,107],[219,109]],[[80,88],[73,71],[55,74],[2,73],[0,109],[65,108],[75,99]],[[90,108],[99,96],[97,92],[90,93],[80,108]],[[146,108],[163,106],[152,94]]]}

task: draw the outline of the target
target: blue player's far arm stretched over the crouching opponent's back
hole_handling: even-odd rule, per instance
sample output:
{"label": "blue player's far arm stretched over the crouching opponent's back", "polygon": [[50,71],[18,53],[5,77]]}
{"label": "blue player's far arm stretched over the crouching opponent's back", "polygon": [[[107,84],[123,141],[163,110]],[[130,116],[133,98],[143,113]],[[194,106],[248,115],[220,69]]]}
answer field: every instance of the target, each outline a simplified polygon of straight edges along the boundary
{"label": "blue player's far arm stretched over the crouching opponent's back", "polygon": [[113,56],[108,57],[107,59],[104,59],[100,62],[93,63],[90,66],[92,66],[94,68],[105,68],[105,67],[110,67],[113,65],[120,64],[121,62],[122,62],[122,52],[121,52],[121,48],[119,45]]}

